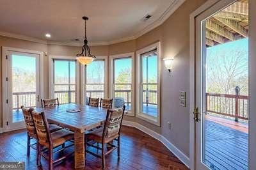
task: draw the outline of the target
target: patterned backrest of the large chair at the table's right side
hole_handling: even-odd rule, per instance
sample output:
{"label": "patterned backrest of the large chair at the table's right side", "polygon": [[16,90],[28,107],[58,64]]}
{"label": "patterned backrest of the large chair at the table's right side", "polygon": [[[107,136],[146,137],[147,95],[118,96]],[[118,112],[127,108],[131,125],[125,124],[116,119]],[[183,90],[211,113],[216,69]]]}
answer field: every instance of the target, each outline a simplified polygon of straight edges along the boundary
{"label": "patterned backrest of the large chair at the table's right side", "polygon": [[122,109],[108,109],[105,125],[103,128],[103,137],[113,137],[120,134],[122,121],[124,118],[125,105]]}

